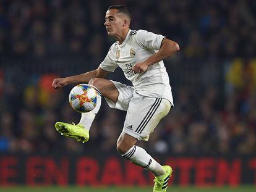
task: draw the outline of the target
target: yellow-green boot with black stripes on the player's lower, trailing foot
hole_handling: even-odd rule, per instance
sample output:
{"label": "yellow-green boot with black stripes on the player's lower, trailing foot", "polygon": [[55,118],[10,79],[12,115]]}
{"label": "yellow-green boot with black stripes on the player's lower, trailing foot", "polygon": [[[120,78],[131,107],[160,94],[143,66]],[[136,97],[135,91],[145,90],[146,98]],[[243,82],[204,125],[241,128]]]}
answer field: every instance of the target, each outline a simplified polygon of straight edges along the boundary
{"label": "yellow-green boot with black stripes on the player's lower, trailing foot", "polygon": [[164,165],[162,167],[165,171],[165,174],[161,175],[160,177],[155,177],[153,192],[165,192],[167,190],[168,180],[169,177],[171,177],[173,169],[171,169],[169,165]]}

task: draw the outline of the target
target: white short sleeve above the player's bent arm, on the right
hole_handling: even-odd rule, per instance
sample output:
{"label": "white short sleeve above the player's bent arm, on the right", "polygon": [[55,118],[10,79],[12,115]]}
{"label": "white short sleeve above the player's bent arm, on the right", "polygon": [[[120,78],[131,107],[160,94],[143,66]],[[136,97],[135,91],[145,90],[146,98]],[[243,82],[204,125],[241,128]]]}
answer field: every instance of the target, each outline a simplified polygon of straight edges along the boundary
{"label": "white short sleeve above the player's bent arm, on the right", "polygon": [[145,30],[139,30],[137,33],[137,43],[146,49],[159,50],[161,48],[161,43],[165,36],[156,35]]}

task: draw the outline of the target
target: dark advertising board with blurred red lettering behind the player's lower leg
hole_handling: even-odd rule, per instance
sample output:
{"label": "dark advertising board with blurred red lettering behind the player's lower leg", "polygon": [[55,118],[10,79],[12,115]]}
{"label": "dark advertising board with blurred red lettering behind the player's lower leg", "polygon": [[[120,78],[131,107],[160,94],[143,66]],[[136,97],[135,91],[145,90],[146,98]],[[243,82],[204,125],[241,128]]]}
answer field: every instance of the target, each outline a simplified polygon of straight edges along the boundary
{"label": "dark advertising board with blurred red lettering behind the player's lower leg", "polygon": [[[256,157],[169,157],[177,185],[256,184]],[[153,175],[122,157],[0,156],[0,185],[151,185]]]}

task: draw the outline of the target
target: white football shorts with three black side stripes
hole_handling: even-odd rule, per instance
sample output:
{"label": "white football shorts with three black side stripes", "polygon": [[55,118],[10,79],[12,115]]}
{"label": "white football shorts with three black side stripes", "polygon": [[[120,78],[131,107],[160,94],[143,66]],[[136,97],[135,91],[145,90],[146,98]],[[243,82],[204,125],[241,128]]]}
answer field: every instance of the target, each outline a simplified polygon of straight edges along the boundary
{"label": "white football shorts with three black side stripes", "polygon": [[169,113],[171,103],[163,98],[142,96],[132,86],[112,82],[119,91],[118,100],[114,103],[108,98],[105,99],[109,107],[127,111],[122,131],[138,140],[147,141],[156,125]]}

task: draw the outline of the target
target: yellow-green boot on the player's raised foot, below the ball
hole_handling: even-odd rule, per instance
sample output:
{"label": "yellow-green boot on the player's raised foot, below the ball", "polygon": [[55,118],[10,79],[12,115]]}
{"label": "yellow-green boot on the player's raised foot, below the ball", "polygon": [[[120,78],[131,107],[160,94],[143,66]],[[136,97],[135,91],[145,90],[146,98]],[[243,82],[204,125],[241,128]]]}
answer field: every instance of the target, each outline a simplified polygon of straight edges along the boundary
{"label": "yellow-green boot on the player's raised foot, below the ball", "polygon": [[55,123],[55,128],[61,135],[75,138],[82,143],[87,142],[90,138],[89,131],[86,130],[83,125],[57,122]]}

